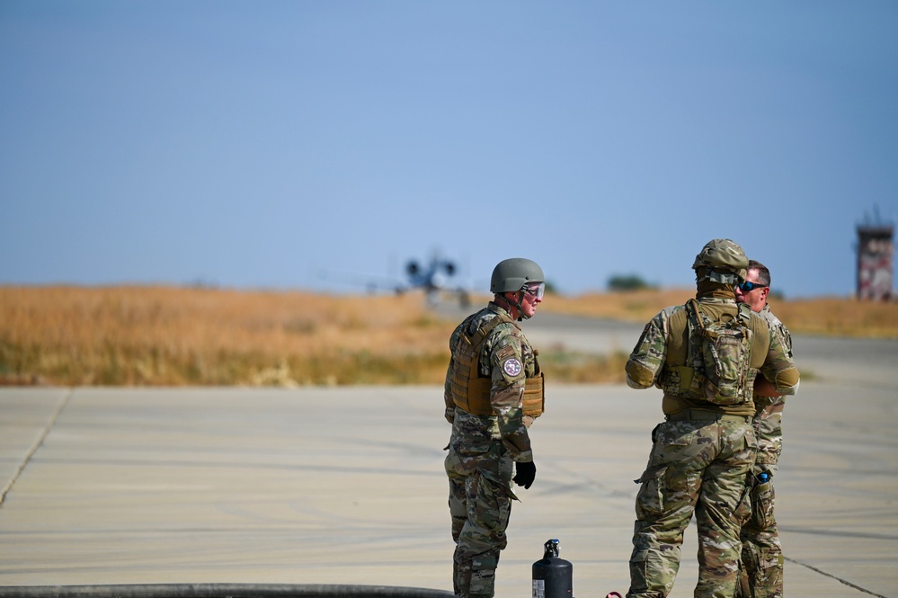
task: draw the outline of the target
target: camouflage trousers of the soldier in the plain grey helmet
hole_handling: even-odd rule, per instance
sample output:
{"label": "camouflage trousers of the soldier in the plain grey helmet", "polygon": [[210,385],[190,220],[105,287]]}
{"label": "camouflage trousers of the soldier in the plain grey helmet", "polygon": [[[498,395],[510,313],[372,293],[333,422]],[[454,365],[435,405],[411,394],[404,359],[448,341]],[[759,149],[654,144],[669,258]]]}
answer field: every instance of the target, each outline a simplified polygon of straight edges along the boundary
{"label": "camouflage trousers of the soldier in the plain grey helmet", "polygon": [[493,596],[499,553],[505,548],[511,515],[511,475],[514,469],[501,441],[486,445],[449,445],[449,513],[455,595]]}

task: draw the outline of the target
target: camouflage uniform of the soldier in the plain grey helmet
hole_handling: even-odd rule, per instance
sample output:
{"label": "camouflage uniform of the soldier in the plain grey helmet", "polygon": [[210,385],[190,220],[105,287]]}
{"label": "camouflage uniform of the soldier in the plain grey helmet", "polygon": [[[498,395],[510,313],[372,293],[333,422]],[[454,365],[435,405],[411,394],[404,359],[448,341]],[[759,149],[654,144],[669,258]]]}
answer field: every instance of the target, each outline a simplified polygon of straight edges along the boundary
{"label": "camouflage uniform of the soldier in the plain grey helmet", "polygon": [[[525,378],[538,373],[533,349],[509,318],[485,337],[479,374],[492,379],[493,415],[473,415],[453,400],[451,380],[457,366],[461,335],[473,335],[495,317],[509,313],[491,302],[469,316],[449,340],[453,358],[446,373],[446,419],[452,424],[446,474],[449,476],[449,513],[455,594],[493,596],[499,553],[505,548],[505,529],[511,513],[513,461],[532,461],[527,432],[531,418],[522,415]],[[506,367],[507,366],[507,367]],[[521,367],[522,366],[522,367]],[[525,420],[527,425],[525,425]]]}

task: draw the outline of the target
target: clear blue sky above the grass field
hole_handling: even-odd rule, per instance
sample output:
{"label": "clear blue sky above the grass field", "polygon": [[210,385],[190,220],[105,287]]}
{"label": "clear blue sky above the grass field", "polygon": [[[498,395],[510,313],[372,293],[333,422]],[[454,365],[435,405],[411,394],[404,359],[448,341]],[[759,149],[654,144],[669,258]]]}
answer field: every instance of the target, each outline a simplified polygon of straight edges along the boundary
{"label": "clear blue sky above the grass field", "polygon": [[898,3],[3,0],[0,284],[854,291],[898,215]]}

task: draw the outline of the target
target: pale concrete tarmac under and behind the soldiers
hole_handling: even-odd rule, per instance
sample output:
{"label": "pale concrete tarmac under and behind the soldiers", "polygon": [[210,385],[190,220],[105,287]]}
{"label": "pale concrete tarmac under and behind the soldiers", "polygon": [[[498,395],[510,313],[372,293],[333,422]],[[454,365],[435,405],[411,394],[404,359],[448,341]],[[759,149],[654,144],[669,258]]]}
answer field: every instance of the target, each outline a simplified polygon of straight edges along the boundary
{"label": "pale concrete tarmac under and behind the soldiers", "polygon": [[[641,329],[547,319],[528,323],[537,346],[628,352]],[[795,344],[812,375],[787,404],[776,482],[787,595],[898,598],[898,342]],[[496,595],[530,595],[551,538],[574,596],[625,594],[660,391],[547,388],[537,479],[512,508]],[[450,591],[448,440],[435,386],[3,388],[0,586]],[[673,598],[692,595],[696,548],[693,522]]]}

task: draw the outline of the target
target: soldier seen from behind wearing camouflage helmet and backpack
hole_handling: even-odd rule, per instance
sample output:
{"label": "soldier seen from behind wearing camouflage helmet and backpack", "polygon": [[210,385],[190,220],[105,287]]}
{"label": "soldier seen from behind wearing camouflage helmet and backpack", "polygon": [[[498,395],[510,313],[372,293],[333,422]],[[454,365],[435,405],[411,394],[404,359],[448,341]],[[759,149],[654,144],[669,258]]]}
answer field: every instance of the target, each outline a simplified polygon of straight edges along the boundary
{"label": "soldier seen from behind wearing camouflage helmet and backpack", "polygon": [[627,361],[627,384],[663,390],[664,421],[652,433],[637,480],[636,524],[627,598],[670,594],[683,532],[698,527],[697,598],[732,596],[739,533],[751,512],[749,486],[757,442],[752,428],[755,378],[793,395],[799,375],[767,321],[736,303],[734,287],[749,261],[730,239],[696,256],[696,299],[664,308],[645,326]]}

